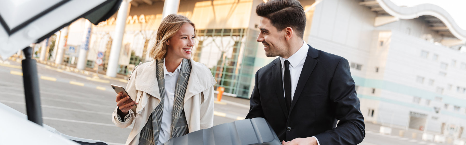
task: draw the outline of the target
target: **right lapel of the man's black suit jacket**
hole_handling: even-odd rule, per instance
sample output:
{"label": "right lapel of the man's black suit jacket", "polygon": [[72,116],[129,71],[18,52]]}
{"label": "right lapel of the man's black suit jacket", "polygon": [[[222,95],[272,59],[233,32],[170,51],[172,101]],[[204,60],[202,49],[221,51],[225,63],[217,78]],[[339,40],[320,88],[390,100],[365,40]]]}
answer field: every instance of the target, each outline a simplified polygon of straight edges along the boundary
{"label": "right lapel of the man's black suit jacket", "polygon": [[319,57],[319,55],[317,54],[317,49],[309,46],[308,55],[306,57],[306,60],[304,61],[304,66],[302,66],[302,71],[298,79],[298,85],[296,86],[295,95],[293,96],[293,100],[291,102],[290,112],[288,113],[291,113],[291,110],[293,110],[296,101],[298,101],[302,93],[302,90],[304,89],[304,85],[308,83],[309,76],[314,70],[315,65],[317,65],[317,60],[315,60],[315,58],[317,57]]}

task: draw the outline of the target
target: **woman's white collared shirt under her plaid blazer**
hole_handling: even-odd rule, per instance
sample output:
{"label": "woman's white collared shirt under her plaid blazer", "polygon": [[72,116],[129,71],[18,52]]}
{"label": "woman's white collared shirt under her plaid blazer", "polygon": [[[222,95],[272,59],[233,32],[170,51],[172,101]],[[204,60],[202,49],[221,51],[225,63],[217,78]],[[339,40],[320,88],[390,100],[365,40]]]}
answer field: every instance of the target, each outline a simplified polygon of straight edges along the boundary
{"label": "woman's white collared shirt under her plaid blazer", "polygon": [[[173,100],[175,99],[175,86],[179,76],[181,64],[176,68],[175,72],[168,72],[164,61],[164,79],[165,79],[165,98],[164,98],[164,114],[162,115],[162,125],[160,126],[160,134],[158,135],[157,145],[162,145],[170,139],[171,130],[171,112],[173,111]],[[157,88],[158,89],[158,88]]]}

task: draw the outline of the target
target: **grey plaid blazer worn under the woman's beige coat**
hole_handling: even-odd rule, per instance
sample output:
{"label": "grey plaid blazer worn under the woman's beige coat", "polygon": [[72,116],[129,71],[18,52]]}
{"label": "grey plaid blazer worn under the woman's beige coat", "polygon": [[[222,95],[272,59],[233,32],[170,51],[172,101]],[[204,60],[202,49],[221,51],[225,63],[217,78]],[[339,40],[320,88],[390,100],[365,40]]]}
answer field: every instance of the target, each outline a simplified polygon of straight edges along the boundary
{"label": "grey plaid blazer worn under the woman's beige coat", "polygon": [[[188,124],[186,122],[183,105],[190,73],[191,62],[188,59],[183,59],[175,86],[175,100],[173,101],[173,110],[171,113],[170,138],[176,138],[188,134]],[[161,101],[154,111],[152,111],[149,120],[141,130],[139,145],[157,145],[158,143],[165,98],[164,59],[157,61],[156,77]]]}

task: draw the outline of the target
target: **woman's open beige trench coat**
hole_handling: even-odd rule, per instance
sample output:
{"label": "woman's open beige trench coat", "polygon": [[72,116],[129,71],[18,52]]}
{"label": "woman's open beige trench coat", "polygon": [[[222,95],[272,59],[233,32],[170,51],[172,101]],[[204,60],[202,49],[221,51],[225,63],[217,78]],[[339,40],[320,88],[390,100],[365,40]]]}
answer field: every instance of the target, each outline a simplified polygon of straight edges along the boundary
{"label": "woman's open beige trench coat", "polygon": [[[185,93],[184,110],[189,132],[213,126],[213,85],[216,84],[212,73],[205,65],[191,61],[191,74]],[[118,127],[125,128],[134,122],[126,145],[137,145],[141,129],[147,123],[151,112],[160,103],[156,61],[147,62],[134,68],[126,91],[138,103],[130,110],[130,118],[120,122],[117,109],[112,114],[112,121]]]}

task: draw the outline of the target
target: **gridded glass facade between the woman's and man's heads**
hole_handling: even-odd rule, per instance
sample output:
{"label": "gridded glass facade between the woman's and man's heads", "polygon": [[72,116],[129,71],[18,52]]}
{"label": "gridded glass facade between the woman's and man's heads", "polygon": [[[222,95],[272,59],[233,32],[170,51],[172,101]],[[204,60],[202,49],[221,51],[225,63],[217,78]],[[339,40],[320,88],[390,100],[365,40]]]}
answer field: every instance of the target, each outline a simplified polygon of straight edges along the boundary
{"label": "gridded glass facade between the woman's and man's heads", "polygon": [[255,42],[257,33],[247,28],[197,31],[199,43],[193,59],[210,68],[217,81],[214,89],[222,86],[227,93],[248,98],[257,52],[256,43],[250,42]]}

